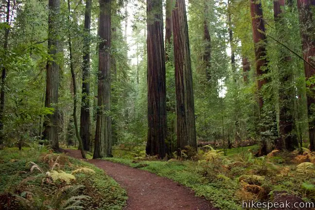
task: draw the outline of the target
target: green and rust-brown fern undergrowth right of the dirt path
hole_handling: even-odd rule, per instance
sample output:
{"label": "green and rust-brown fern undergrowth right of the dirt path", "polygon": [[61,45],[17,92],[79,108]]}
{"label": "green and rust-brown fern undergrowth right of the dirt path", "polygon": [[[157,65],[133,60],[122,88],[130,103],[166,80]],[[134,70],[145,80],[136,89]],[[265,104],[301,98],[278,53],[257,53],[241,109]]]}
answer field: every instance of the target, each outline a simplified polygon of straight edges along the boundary
{"label": "green and rust-brown fern undergrowth right of the dirt path", "polygon": [[173,179],[221,210],[241,210],[242,200],[274,201],[279,193],[315,201],[315,153],[304,148],[303,154],[274,150],[254,157],[256,147],[239,153],[234,148],[223,156],[222,151],[206,146],[191,159],[168,161],[143,156],[105,159]]}

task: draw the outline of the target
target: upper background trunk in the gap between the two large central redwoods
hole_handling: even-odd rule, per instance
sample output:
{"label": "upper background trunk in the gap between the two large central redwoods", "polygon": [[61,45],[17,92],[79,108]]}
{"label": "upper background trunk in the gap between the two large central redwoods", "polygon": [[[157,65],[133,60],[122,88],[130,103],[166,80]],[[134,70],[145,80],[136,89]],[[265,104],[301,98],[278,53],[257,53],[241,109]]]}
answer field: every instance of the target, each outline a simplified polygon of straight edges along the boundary
{"label": "upper background trunk in the gap between the two large central redwoods", "polygon": [[165,61],[168,61],[168,50],[172,43],[172,34],[173,34],[173,18],[172,18],[172,10],[173,10],[173,0],[166,0],[165,5],[166,10],[166,18],[165,18]]}

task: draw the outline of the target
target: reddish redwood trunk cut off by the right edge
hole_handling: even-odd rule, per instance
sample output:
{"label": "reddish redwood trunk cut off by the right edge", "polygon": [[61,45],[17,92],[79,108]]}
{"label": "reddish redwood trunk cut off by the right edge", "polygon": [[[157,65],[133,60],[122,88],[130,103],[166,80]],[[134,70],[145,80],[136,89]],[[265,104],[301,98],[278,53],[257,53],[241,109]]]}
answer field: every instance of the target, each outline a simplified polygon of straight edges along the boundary
{"label": "reddish redwood trunk cut off by the right edge", "polygon": [[[311,7],[315,6],[315,0],[297,0],[297,8],[299,12],[300,33],[302,37],[303,58],[312,66],[315,66],[315,26],[313,17],[314,14]],[[315,75],[315,69],[311,65],[304,62],[305,78],[308,80]],[[307,94],[307,107],[309,116],[309,135],[310,135],[310,149],[315,151],[315,120],[310,120],[314,115],[311,105],[315,103],[314,99],[314,84],[311,85],[310,91]]]}

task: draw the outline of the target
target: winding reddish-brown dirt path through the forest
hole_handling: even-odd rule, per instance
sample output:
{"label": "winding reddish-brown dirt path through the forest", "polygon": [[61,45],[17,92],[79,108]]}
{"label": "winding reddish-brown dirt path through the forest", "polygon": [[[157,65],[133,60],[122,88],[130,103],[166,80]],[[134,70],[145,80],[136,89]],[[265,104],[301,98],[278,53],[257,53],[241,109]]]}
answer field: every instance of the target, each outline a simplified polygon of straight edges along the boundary
{"label": "winding reddish-brown dirt path through the forest", "polygon": [[[71,157],[82,158],[79,150],[65,151]],[[218,210],[168,178],[102,159],[87,161],[103,169],[127,191],[124,210]]]}

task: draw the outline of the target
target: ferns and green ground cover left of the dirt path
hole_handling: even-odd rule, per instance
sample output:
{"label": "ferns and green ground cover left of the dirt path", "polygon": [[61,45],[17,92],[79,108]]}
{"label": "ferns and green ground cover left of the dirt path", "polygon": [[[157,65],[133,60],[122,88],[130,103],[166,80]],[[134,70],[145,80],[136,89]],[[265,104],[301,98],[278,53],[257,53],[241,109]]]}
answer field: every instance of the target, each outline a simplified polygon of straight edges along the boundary
{"label": "ferns and green ground cover left of the dirt path", "polygon": [[121,210],[126,192],[104,171],[46,148],[0,151],[0,209]]}

